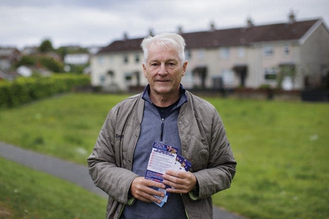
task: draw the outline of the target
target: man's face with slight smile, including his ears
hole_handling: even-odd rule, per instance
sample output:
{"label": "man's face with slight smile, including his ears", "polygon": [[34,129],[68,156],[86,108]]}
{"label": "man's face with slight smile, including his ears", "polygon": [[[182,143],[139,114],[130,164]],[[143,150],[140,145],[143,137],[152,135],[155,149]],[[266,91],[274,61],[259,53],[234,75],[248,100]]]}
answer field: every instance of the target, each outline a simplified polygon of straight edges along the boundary
{"label": "man's face with slight smile, including his ears", "polygon": [[179,83],[184,76],[187,62],[181,64],[178,52],[174,48],[149,46],[149,54],[143,71],[150,84],[151,93],[157,95],[179,92]]}

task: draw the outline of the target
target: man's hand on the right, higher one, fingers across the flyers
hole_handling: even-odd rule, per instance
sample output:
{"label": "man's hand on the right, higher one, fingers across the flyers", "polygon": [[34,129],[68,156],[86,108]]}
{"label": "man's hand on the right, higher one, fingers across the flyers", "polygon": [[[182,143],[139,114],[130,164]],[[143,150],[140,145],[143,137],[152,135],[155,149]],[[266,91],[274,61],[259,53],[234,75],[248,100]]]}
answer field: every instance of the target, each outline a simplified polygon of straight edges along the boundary
{"label": "man's hand on the right, higher one, fingers across the flyers", "polygon": [[197,182],[196,177],[191,172],[167,170],[162,176],[163,184],[174,187],[174,189],[167,189],[168,192],[188,193],[195,188]]}

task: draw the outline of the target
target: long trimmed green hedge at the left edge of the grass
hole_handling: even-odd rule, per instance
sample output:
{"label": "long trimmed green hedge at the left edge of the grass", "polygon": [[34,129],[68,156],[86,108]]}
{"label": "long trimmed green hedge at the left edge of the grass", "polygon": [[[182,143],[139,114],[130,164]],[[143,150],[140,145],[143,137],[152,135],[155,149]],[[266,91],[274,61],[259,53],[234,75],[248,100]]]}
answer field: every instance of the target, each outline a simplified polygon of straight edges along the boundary
{"label": "long trimmed green hedge at the left edge of the grass", "polygon": [[86,75],[54,74],[50,77],[19,77],[0,82],[0,108],[15,107],[36,99],[90,84]]}

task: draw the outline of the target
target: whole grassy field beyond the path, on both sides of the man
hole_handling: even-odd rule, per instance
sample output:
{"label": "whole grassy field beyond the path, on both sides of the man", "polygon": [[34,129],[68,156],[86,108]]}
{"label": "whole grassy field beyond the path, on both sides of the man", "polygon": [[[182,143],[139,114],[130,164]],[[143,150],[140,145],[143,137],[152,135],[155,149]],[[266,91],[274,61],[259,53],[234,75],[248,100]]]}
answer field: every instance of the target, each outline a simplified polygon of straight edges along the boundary
{"label": "whole grassy field beyond the path, on both sides of the man", "polygon": [[[2,109],[0,141],[86,165],[108,110],[126,96],[72,93]],[[329,104],[207,100],[237,160],[215,205],[249,218],[329,217]]]}

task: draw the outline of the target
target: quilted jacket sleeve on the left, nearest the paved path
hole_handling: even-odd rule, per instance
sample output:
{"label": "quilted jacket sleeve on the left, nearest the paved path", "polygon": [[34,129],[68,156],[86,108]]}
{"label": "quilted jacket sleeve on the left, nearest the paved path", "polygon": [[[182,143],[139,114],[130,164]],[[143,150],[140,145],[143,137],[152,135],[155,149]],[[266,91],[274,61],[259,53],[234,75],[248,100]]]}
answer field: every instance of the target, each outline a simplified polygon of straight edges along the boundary
{"label": "quilted jacket sleeve on the left, nearest the paved path", "polygon": [[138,175],[120,167],[120,147],[115,145],[116,109],[108,113],[87,162],[94,184],[114,200],[129,204],[130,186]]}

